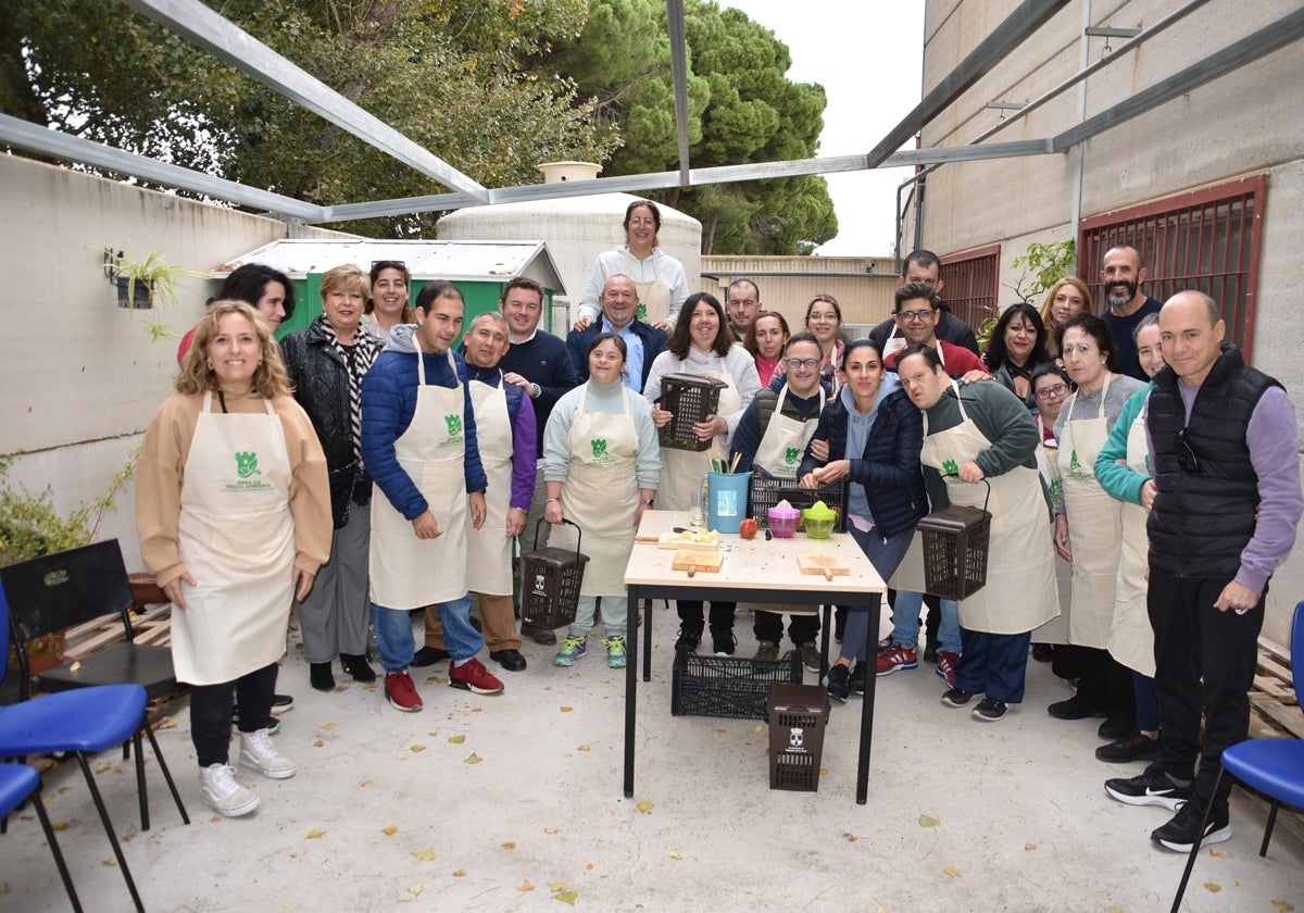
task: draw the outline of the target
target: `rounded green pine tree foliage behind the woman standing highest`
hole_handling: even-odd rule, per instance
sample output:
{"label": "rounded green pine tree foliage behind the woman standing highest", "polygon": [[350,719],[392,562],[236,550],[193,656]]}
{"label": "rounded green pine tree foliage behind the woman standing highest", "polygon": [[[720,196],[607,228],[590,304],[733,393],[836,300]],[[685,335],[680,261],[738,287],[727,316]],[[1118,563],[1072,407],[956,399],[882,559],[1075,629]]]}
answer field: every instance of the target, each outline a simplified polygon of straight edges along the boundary
{"label": "rounded green pine tree foliage behind the woman standing highest", "polygon": [[[703,0],[685,9],[689,142],[695,168],[815,155],[824,89],[788,80],[788,47],[737,9]],[[674,171],[670,48],[660,0],[589,0],[574,39],[558,39],[542,65],[575,81],[623,146],[606,175]],[[716,184],[660,194],[698,218],[707,253],[810,253],[837,233],[823,177]]]}

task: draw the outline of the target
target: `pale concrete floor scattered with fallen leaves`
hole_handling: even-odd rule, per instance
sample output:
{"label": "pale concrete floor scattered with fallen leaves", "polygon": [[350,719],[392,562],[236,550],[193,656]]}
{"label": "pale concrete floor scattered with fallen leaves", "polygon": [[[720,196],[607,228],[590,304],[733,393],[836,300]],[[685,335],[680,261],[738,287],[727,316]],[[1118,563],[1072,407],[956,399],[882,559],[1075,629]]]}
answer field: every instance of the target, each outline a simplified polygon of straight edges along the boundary
{"label": "pale concrete floor scattered with fallen leaves", "polygon": [[[675,627],[660,608],[632,800],[621,790],[623,672],[596,642],[572,669],[527,644],[529,669],[502,673],[493,698],[449,689],[446,664],[416,670],[421,713],[394,711],[373,685],[312,690],[293,643],[278,690],[296,706],[276,741],[299,773],[241,770],[262,805],[240,819],[201,803],[176,702],[159,740],[192,826],[151,763],[154,827],[140,832],[130,764],[100,758],[146,908],[1168,909],[1184,857],[1149,840],[1168,813],[1104,793],[1106,777],[1142,766],[1102,764],[1094,721],[1046,713],[1068,695],[1048,666],[1029,664],[1026,702],[998,724],[943,706],[931,665],[879,680],[870,802],[857,806],[857,699],[833,707],[819,792],[772,792],[759,721],[670,716]],[[738,634],[750,655],[745,617]],[[76,766],[48,772],[44,790],[86,909],[129,909]],[[1201,854],[1183,909],[1304,910],[1304,843],[1288,814],[1261,860],[1264,806],[1237,790],[1235,833]],[[0,910],[67,909],[30,807],[0,850]]]}

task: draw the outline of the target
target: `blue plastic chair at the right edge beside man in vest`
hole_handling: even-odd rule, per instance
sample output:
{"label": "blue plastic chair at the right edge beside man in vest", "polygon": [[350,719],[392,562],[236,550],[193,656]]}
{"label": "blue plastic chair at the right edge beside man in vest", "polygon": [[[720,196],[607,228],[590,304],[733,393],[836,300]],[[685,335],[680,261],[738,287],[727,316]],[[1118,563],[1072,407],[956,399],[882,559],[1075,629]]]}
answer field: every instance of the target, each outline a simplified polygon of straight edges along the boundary
{"label": "blue plastic chair at the right edge beside man in vest", "polygon": [[[1304,681],[1301,681],[1304,680],[1304,601],[1295,606],[1295,620],[1291,623],[1291,677],[1295,683],[1295,700],[1304,707]],[[1214,785],[1215,796],[1224,773],[1271,801],[1267,827],[1264,828],[1264,843],[1258,848],[1260,856],[1267,856],[1267,841],[1273,839],[1277,810],[1283,805],[1304,809],[1304,740],[1251,738],[1232,745],[1223,751],[1222,770],[1218,771],[1218,783]],[[1209,809],[1205,809],[1200,833],[1205,832],[1208,819]],[[1196,865],[1198,852],[1197,837],[1191,845],[1191,856],[1187,857],[1187,869],[1181,873],[1178,896],[1172,900],[1172,913],[1178,913],[1181,896],[1187,892],[1187,882],[1191,880],[1191,870]]]}

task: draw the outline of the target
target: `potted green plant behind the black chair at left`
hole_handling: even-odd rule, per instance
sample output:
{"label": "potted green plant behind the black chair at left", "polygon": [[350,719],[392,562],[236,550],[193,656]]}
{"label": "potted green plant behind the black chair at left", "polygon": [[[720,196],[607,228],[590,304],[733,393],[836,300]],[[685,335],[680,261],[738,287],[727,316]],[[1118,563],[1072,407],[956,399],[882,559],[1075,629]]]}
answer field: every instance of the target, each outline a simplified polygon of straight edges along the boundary
{"label": "potted green plant behind the black chair at left", "polygon": [[[104,511],[115,506],[113,496],[134,473],[138,454],[138,450],[132,453],[126,464],[110,481],[108,490],[91,501],[81,502],[67,514],[55,510],[53,493],[48,485],[39,492],[33,492],[22,484],[10,485],[8,473],[14,454],[0,456],[0,565],[77,548],[94,539]],[[31,673],[59,665],[65,646],[67,638],[63,631],[29,642]],[[13,651],[14,647],[10,644],[7,657],[10,669],[18,666]]]}

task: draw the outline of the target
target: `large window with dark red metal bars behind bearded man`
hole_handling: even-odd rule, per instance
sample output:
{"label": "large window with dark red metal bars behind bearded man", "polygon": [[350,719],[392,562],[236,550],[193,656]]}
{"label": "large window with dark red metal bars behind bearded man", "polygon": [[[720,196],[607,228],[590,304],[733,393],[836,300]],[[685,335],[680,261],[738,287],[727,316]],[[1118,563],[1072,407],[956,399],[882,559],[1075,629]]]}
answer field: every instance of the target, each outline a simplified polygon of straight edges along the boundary
{"label": "large window with dark red metal bars behind bearded man", "polygon": [[1129,244],[1145,258],[1142,292],[1161,301],[1187,288],[1211,296],[1222,308],[1228,342],[1240,346],[1248,361],[1266,192],[1267,175],[1254,175],[1084,219],[1078,277],[1102,301],[1104,253]]}

